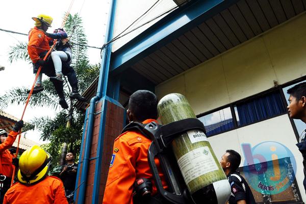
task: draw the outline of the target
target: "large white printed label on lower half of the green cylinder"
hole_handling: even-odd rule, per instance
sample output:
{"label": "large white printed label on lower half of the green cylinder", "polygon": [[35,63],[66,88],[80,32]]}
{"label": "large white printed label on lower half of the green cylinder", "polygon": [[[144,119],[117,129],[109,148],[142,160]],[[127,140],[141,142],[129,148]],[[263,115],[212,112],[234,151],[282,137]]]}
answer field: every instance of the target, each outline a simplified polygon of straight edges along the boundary
{"label": "large white printed label on lower half of the green cylinder", "polygon": [[184,154],[177,160],[177,164],[179,164],[186,184],[203,174],[218,170],[208,147],[200,147]]}

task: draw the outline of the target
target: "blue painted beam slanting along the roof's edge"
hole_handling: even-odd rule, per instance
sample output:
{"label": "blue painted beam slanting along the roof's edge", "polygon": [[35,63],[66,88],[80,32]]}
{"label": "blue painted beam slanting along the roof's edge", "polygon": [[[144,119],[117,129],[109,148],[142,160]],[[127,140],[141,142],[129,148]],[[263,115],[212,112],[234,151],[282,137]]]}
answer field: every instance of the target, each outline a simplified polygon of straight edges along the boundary
{"label": "blue painted beam slanting along the roof's edge", "polygon": [[198,0],[174,10],[112,54],[112,73],[121,73],[141,58],[237,2]]}

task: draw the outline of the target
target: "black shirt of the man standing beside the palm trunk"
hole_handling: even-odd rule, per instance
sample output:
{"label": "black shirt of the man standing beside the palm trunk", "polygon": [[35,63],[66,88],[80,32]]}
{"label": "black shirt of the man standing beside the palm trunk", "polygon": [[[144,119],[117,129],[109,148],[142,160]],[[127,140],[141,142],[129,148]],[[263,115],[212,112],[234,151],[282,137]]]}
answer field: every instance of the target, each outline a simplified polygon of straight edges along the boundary
{"label": "black shirt of the man standing beside the palm trunk", "polygon": [[[64,169],[66,165],[62,166],[62,170]],[[72,171],[73,169],[75,169],[75,172]],[[74,191],[75,180],[77,180],[77,171],[78,171],[78,164],[74,163],[72,165],[68,165],[68,169],[60,175],[60,178],[65,187],[65,190]]]}

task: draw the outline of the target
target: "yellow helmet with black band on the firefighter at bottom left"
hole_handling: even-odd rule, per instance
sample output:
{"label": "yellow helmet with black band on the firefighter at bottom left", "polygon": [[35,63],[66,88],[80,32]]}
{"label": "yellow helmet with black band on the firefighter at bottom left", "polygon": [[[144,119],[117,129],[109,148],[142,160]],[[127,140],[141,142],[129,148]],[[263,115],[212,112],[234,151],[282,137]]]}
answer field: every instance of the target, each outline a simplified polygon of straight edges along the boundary
{"label": "yellow helmet with black band on the firefighter at bottom left", "polygon": [[50,155],[37,145],[25,150],[19,158],[19,182],[28,185],[40,182],[47,175],[50,162]]}

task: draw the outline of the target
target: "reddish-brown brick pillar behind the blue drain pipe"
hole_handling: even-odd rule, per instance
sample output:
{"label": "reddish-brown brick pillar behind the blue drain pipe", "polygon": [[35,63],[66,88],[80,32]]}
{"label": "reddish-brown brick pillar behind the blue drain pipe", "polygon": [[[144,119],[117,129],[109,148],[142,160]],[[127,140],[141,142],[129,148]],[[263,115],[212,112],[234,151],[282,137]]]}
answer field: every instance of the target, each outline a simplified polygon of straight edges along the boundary
{"label": "reddish-brown brick pillar behind the blue drain pipe", "polygon": [[[101,105],[106,103],[105,112],[101,110]],[[85,203],[92,203],[92,196],[93,196],[93,188],[98,188],[98,203],[102,203],[103,201],[103,194],[104,189],[107,181],[107,175],[110,165],[110,160],[113,152],[113,144],[114,140],[118,137],[119,133],[121,132],[124,124],[125,124],[125,109],[116,101],[111,99],[106,99],[100,101],[96,104],[96,115],[94,119],[94,127],[92,133],[92,142],[91,142],[91,151],[90,151],[90,161],[89,161],[89,168],[88,168],[88,177],[87,177],[87,184],[86,184],[86,195],[85,195]],[[101,118],[102,116],[102,118]],[[105,126],[100,127],[103,125],[103,120],[105,120]],[[87,121],[85,121],[87,123]],[[87,130],[87,125],[86,128]],[[97,148],[99,143],[99,131],[104,132],[101,135],[101,138],[104,138],[103,141],[103,152],[98,156]],[[86,135],[84,135],[84,142],[85,144]],[[84,145],[83,145],[84,146]],[[82,159],[84,157],[84,147],[82,147]],[[98,172],[95,172],[95,165],[97,160],[101,160],[101,167]],[[79,171],[82,171],[82,164]],[[100,180],[98,186],[94,185],[94,175],[100,174]],[[81,176],[81,174],[80,174]],[[79,178],[79,184],[81,180]],[[77,192],[79,193],[79,191]],[[77,195],[78,196],[78,195]]]}

